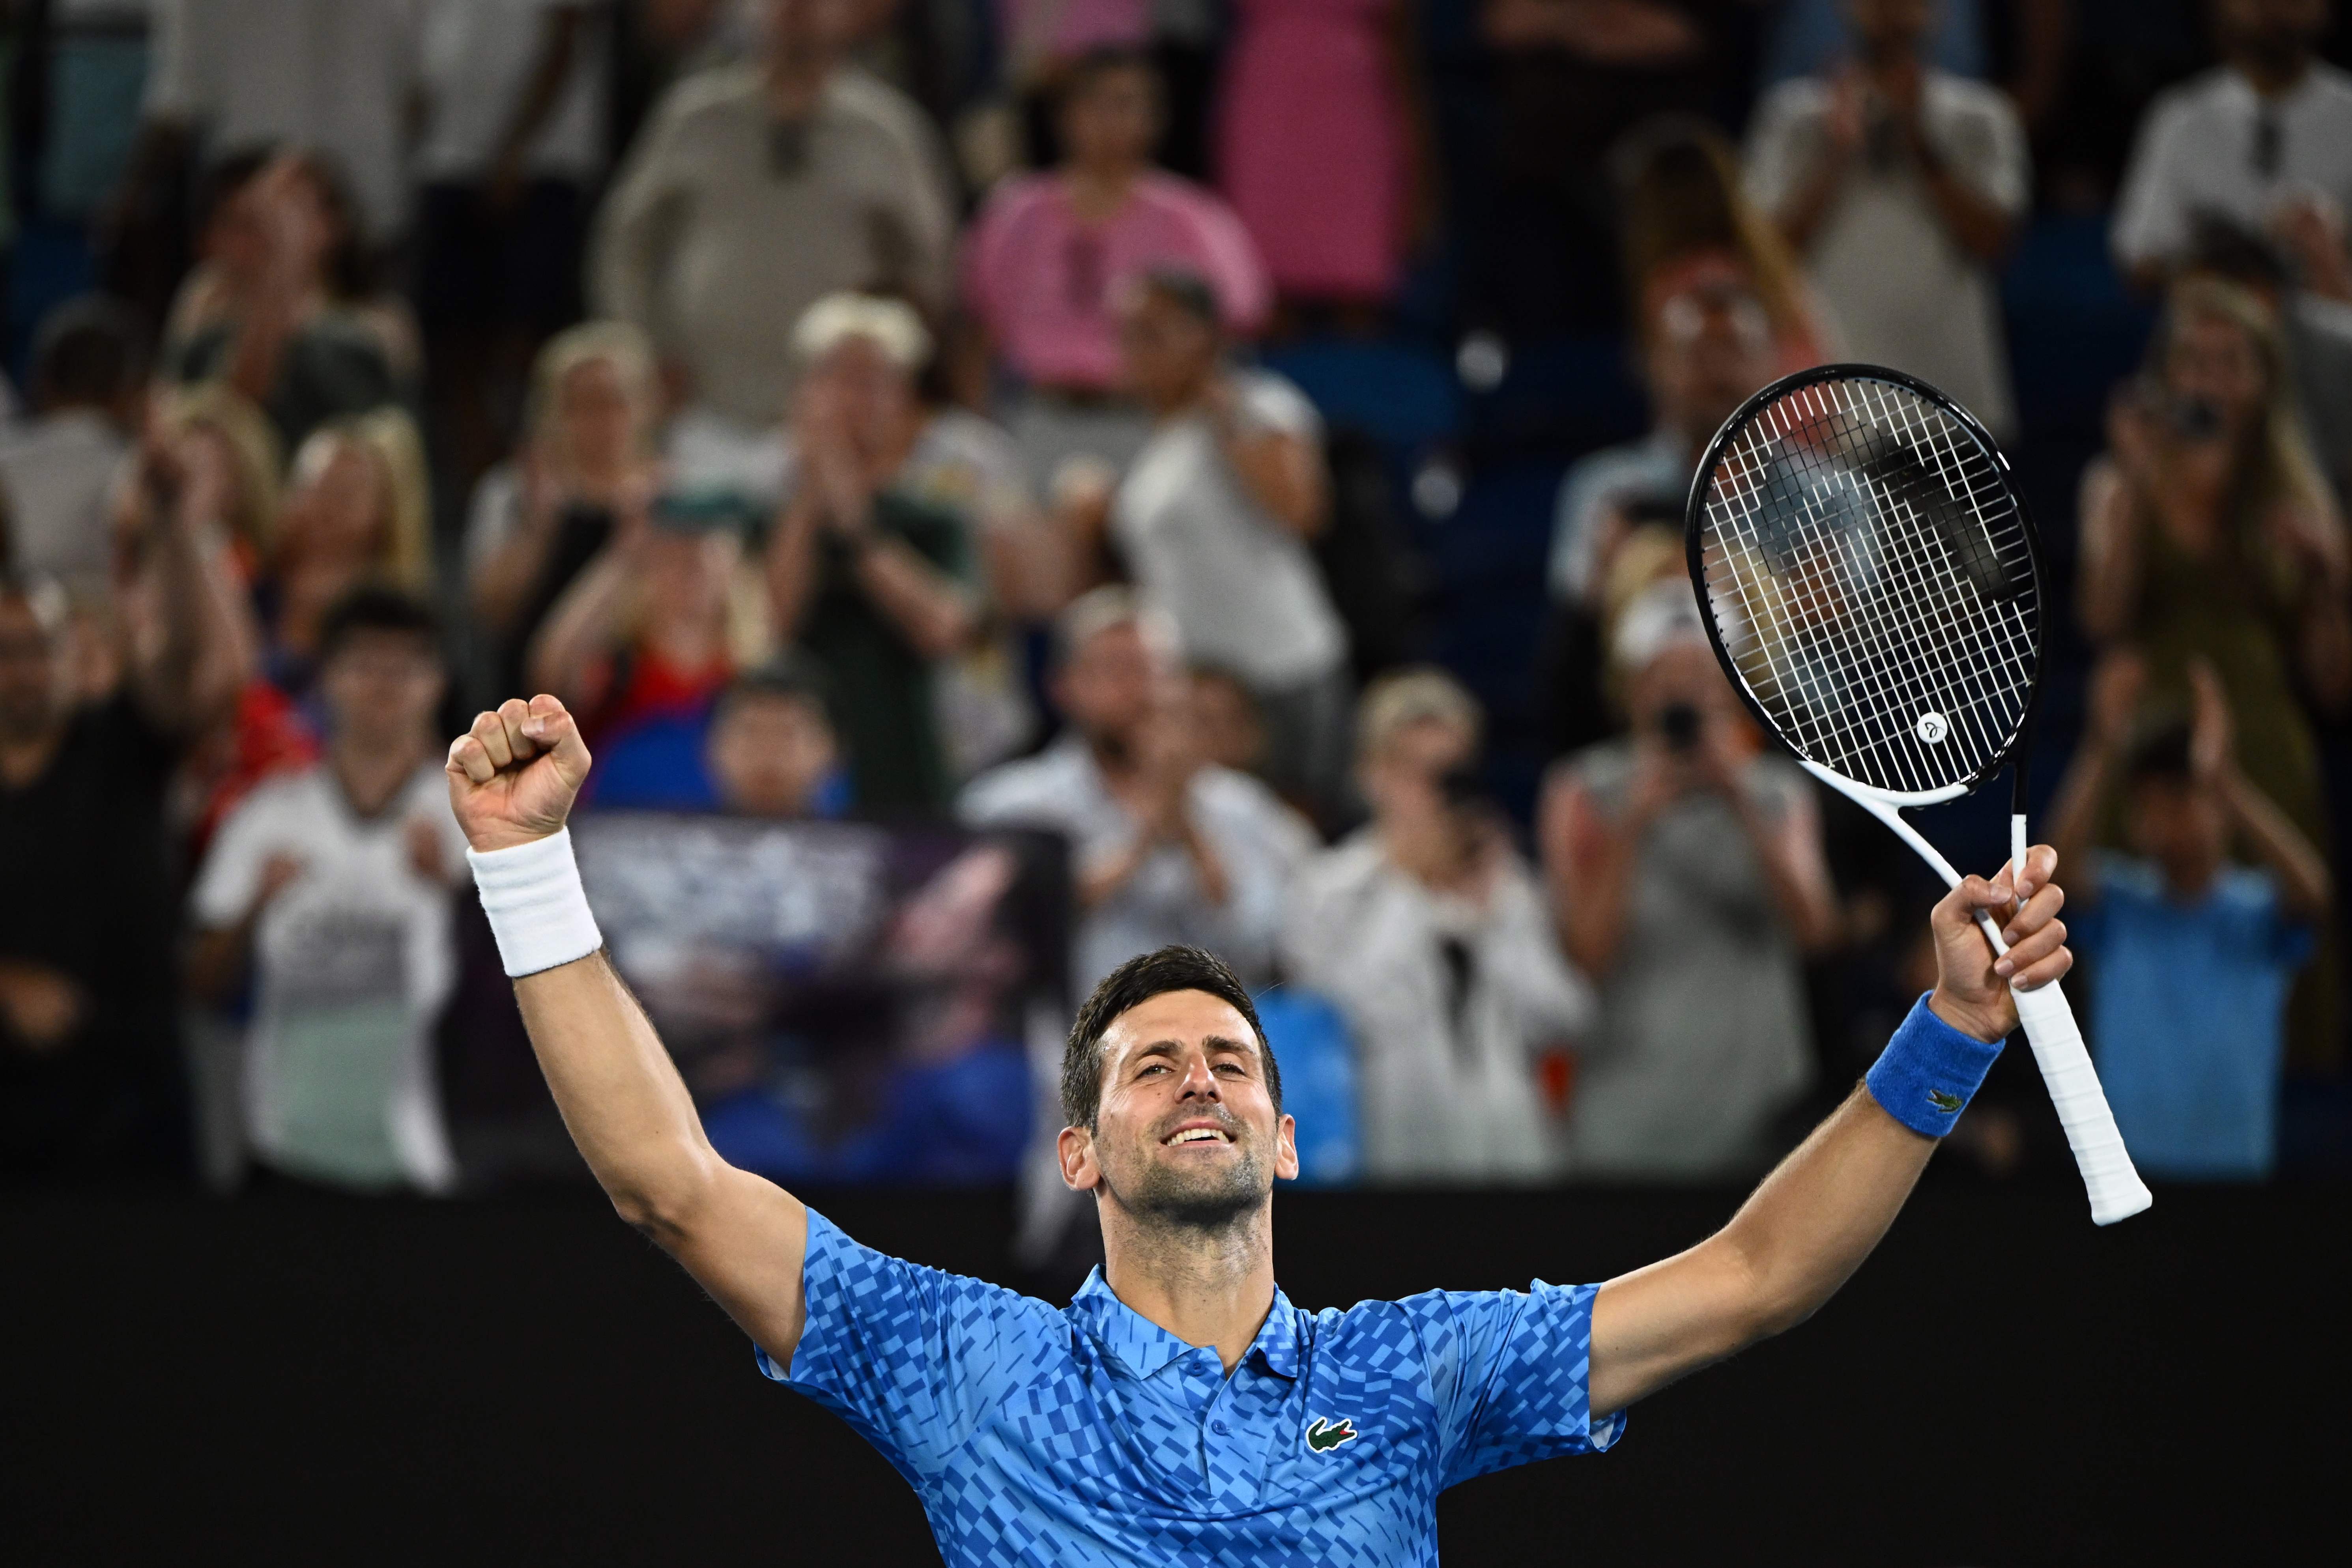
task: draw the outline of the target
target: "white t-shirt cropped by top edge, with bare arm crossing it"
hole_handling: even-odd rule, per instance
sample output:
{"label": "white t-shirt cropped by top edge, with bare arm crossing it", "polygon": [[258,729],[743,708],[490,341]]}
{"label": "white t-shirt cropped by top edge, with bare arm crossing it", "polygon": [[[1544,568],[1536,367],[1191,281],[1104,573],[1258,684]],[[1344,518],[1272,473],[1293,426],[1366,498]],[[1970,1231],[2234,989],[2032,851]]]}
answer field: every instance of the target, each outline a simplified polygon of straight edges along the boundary
{"label": "white t-shirt cropped by top edge, with bare arm crossing it", "polygon": [[604,28],[583,0],[423,0],[426,141],[416,176],[470,181],[489,174],[506,127],[522,108],[555,12],[583,12],[555,110],[541,122],[524,167],[588,181],[602,165]]}

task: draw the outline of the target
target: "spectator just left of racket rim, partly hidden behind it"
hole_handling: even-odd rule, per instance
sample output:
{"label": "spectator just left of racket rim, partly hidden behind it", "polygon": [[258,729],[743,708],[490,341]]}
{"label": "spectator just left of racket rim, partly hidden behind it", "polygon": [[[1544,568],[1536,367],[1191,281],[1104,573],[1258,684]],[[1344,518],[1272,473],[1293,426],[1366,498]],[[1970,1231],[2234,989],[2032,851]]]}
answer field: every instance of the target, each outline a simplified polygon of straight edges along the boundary
{"label": "spectator just left of racket rim, partly hidden behind it", "polygon": [[1682,503],[1708,440],[1773,376],[1771,317],[1724,254],[1663,268],[1642,289],[1642,378],[1651,433],[1581,456],[1552,520],[1552,628],[1543,649],[1545,748],[1552,755],[1616,729],[1604,693],[1611,567],[1644,527],[1682,543]]}

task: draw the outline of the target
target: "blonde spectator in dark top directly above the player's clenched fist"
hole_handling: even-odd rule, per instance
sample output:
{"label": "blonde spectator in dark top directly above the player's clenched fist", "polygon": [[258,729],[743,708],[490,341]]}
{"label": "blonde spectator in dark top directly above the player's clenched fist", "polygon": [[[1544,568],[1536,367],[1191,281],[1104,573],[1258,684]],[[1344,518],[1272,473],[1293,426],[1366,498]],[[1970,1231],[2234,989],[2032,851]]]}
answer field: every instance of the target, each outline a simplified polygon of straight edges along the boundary
{"label": "blonde spectator in dark top directly above the player's clenched fist", "polygon": [[654,350],[635,327],[588,322],[539,353],[522,449],[482,475],[466,517],[466,583],[506,691],[522,686],[524,649],[612,541],[614,517],[644,503],[659,402]]}

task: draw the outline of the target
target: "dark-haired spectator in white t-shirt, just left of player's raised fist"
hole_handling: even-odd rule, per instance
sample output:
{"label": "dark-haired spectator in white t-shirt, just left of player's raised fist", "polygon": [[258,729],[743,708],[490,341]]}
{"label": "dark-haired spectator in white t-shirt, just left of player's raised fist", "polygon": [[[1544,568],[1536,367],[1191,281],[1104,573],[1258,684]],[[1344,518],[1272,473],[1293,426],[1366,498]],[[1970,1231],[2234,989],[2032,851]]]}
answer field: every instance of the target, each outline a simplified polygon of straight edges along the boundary
{"label": "dark-haired spectator in white t-shirt, just left of player's raised fist", "polygon": [[245,1133],[263,1166],[329,1187],[445,1192],[433,1023],[456,978],[449,889],[466,839],[433,715],[433,611],[355,588],[320,630],[327,752],[221,823],[191,893],[188,990],[249,976]]}

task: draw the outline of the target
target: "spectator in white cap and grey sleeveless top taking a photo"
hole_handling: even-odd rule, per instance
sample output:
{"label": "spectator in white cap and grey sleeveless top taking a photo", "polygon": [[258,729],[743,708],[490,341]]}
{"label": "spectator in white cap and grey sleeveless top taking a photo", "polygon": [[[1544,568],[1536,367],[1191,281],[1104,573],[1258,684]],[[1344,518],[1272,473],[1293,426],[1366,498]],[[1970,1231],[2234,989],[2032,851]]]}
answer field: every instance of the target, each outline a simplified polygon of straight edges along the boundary
{"label": "spectator in white cap and grey sleeveless top taking a photo", "polygon": [[1740,1175],[1813,1077],[1799,959],[1837,919],[1820,825],[1804,776],[1740,712],[1686,583],[1639,595],[1611,656],[1632,736],[1555,769],[1541,823],[1564,947],[1602,1001],[1571,1161]]}

